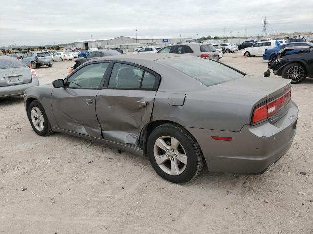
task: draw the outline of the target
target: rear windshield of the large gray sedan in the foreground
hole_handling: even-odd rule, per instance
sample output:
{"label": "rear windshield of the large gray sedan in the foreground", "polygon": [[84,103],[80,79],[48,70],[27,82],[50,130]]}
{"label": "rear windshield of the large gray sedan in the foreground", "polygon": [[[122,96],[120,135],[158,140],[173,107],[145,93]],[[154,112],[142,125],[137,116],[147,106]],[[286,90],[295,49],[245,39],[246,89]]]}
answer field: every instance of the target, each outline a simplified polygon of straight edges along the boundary
{"label": "rear windshield of the large gray sedan in the foreground", "polygon": [[196,56],[170,57],[158,61],[195,78],[206,86],[244,77],[243,74],[221,63]]}

